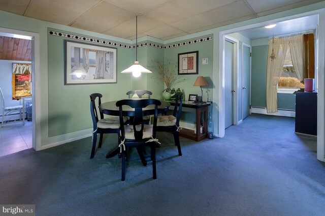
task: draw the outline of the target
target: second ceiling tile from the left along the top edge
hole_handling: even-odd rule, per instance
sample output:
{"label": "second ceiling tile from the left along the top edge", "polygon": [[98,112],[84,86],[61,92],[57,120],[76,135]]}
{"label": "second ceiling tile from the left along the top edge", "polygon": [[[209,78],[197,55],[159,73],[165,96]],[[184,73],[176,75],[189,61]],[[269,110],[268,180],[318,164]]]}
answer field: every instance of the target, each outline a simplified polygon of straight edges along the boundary
{"label": "second ceiling tile from the left along the top edge", "polygon": [[25,16],[69,25],[100,0],[30,0]]}

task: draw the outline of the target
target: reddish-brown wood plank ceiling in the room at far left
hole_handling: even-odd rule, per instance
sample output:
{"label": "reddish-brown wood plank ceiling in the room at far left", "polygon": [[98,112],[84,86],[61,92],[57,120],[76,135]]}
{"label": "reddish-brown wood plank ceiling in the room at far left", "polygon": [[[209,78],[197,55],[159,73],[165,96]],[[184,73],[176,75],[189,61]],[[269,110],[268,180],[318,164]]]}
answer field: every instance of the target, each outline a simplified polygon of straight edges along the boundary
{"label": "reddish-brown wood plank ceiling in the room at far left", "polygon": [[31,61],[31,40],[0,36],[0,59]]}

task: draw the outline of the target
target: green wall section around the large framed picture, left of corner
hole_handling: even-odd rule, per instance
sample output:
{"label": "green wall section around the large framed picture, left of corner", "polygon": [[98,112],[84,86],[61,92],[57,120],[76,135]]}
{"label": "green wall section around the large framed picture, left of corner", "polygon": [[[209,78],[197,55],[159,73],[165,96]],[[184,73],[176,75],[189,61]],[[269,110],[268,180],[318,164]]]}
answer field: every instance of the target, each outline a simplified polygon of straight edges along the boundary
{"label": "green wall section around the large framed picture, left of corner", "polygon": [[[65,40],[48,35],[48,96],[51,99],[48,108],[49,137],[91,128],[90,94],[99,92],[103,95],[102,101],[113,101],[126,98],[126,91],[131,90],[127,86],[131,86],[132,75],[119,72],[128,67],[132,53],[130,49],[120,47],[117,48],[117,59],[130,60],[117,60],[117,83],[64,85]],[[73,39],[69,41],[78,42]]]}

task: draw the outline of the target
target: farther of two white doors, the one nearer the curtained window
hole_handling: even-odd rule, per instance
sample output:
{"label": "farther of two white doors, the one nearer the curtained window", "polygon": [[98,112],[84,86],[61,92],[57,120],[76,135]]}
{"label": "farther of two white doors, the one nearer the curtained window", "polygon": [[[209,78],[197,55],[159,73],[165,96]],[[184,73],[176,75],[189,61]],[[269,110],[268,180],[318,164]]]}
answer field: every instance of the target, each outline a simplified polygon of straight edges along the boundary
{"label": "farther of two white doors, the one nearer the curtained window", "polygon": [[250,47],[243,46],[242,119],[250,113],[250,49]]}

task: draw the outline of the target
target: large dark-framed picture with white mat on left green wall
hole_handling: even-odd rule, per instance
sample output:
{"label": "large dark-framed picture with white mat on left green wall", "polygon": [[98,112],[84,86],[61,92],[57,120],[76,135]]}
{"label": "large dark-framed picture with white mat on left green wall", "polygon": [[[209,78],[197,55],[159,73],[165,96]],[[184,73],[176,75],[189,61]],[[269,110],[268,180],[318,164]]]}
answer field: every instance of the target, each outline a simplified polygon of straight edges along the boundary
{"label": "large dark-framed picture with white mat on left green wall", "polygon": [[64,45],[64,85],[117,82],[116,48],[68,40]]}

